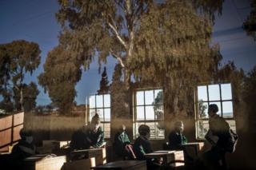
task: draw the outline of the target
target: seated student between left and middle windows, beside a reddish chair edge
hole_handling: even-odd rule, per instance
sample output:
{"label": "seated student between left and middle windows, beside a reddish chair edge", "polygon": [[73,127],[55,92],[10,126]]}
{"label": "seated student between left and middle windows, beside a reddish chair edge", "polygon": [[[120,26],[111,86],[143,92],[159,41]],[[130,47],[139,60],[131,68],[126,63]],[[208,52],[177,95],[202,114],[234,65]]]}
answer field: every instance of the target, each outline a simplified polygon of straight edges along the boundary
{"label": "seated student between left and middle windows, beside a reddish chair edge", "polygon": [[126,133],[126,125],[121,125],[114,136],[114,152],[124,160],[135,157],[129,136]]}

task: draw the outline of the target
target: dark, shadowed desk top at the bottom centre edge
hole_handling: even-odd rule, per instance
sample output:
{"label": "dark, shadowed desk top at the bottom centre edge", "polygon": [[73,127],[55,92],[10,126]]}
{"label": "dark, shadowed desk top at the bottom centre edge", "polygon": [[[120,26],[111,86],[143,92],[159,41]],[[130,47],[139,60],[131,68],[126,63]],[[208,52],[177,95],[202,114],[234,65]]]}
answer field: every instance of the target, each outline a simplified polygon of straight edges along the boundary
{"label": "dark, shadowed desk top at the bottom centre edge", "polygon": [[146,160],[118,160],[110,162],[101,166],[94,167],[92,169],[138,169],[146,170]]}

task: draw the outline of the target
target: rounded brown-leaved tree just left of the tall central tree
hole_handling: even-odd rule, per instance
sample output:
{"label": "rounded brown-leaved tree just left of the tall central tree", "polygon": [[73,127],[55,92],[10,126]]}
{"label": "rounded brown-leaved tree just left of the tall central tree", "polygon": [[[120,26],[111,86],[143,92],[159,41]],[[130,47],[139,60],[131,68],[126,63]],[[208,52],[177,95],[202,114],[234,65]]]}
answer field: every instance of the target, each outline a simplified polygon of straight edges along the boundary
{"label": "rounded brown-leaved tree just left of the tall central tree", "polygon": [[49,93],[52,104],[62,114],[70,113],[76,96],[75,85],[82,75],[78,58],[66,48],[62,42],[48,53],[44,72],[38,77],[39,85]]}

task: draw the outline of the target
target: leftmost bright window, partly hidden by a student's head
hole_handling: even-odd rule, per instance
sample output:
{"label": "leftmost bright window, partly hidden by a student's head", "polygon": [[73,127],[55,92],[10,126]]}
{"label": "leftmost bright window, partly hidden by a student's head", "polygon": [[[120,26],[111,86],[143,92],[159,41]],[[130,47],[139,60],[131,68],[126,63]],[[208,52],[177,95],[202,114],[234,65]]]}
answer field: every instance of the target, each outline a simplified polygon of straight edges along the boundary
{"label": "leftmost bright window, partly hidden by a student's head", "polygon": [[110,94],[92,95],[90,103],[90,121],[95,113],[98,113],[104,136],[110,138]]}

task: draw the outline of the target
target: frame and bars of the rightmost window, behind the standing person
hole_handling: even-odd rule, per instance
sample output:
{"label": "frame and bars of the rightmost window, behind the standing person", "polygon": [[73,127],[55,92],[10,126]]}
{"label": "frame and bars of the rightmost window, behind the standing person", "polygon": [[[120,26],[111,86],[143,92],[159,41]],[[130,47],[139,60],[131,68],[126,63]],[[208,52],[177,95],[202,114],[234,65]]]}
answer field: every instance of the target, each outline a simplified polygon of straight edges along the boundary
{"label": "frame and bars of the rightmost window, behind the standing person", "polygon": [[[231,92],[231,99],[224,99],[222,100],[222,85],[226,85],[226,84],[230,84],[230,92]],[[218,89],[219,89],[219,100],[210,100],[210,97],[209,97],[209,86],[210,85],[218,85]],[[232,117],[223,117],[226,121],[234,121],[234,127],[236,128],[236,121],[234,119],[234,96],[233,96],[233,87],[232,87],[232,83],[231,82],[223,82],[223,83],[217,83],[217,84],[202,84],[202,85],[197,85],[195,87],[195,94],[194,94],[194,108],[195,108],[195,137],[197,140],[206,140],[204,137],[201,138],[199,135],[198,135],[198,122],[199,121],[207,121],[207,124],[209,124],[209,117],[200,117],[199,116],[199,100],[198,100],[198,87],[199,86],[206,86],[206,93],[207,93],[207,100],[206,101],[202,101],[202,103],[207,103],[207,105],[209,106],[210,103],[220,103],[220,108],[219,109],[219,116],[220,117],[223,117],[223,105],[222,103],[223,102],[226,102],[226,101],[231,101],[232,102]],[[208,109],[208,108],[207,108]],[[233,129],[234,131],[236,131],[236,129]]]}

